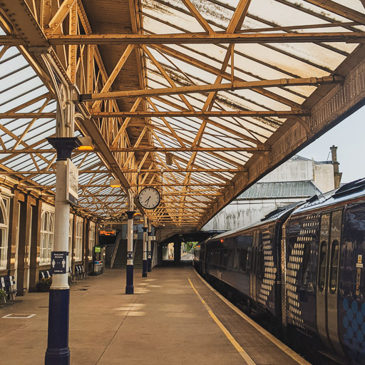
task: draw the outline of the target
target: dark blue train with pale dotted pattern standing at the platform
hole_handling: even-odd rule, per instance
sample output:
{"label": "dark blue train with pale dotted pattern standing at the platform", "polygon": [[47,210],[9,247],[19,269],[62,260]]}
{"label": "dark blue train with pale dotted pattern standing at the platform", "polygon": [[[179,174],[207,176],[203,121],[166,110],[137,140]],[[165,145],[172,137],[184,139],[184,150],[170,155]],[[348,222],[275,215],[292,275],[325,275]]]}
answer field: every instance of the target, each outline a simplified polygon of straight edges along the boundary
{"label": "dark blue train with pale dotted pattern standing at the platform", "polygon": [[297,343],[365,364],[365,179],[195,248],[203,276],[235,289]]}

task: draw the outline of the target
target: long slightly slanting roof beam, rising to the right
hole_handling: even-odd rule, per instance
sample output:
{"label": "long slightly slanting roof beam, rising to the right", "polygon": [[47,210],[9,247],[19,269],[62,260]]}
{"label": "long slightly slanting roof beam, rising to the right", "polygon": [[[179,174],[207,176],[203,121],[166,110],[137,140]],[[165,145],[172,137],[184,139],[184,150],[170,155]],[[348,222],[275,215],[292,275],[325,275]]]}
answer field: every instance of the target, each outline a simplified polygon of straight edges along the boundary
{"label": "long slightly slanting roof beam, rising to the right", "polygon": [[82,94],[81,101],[111,100],[125,97],[148,97],[176,95],[186,93],[207,93],[212,91],[234,91],[250,88],[273,88],[284,86],[319,86],[328,83],[339,83],[339,76],[312,78],[278,78],[276,80],[233,81],[232,83],[214,83],[209,85],[181,86],[180,88],[153,88],[148,90],[113,91],[110,93]]}

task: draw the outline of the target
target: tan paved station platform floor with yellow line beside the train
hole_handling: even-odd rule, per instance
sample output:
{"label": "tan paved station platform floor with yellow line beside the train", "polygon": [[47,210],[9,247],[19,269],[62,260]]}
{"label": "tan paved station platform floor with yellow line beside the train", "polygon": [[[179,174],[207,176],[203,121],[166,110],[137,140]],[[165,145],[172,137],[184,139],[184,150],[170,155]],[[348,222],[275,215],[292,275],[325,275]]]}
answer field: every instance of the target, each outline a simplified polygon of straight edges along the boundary
{"label": "tan paved station platform floor with yellow line beside the train", "polygon": [[[125,269],[71,286],[71,364],[307,365],[191,266],[155,267],[125,295]],[[43,364],[48,294],[0,309],[0,363]],[[18,318],[17,318],[18,317]]]}

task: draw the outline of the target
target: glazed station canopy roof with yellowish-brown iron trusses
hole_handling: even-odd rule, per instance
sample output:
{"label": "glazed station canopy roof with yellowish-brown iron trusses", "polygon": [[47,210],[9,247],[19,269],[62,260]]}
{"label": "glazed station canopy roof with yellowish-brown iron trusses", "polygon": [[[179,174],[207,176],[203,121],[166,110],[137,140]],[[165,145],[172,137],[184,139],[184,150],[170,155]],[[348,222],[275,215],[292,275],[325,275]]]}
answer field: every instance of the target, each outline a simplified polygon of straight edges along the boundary
{"label": "glazed station canopy roof with yellowish-brown iron trusses", "polygon": [[364,0],[1,0],[1,179],[53,198],[51,63],[95,147],[77,209],[118,221],[132,189],[197,230],[363,104],[364,25]]}

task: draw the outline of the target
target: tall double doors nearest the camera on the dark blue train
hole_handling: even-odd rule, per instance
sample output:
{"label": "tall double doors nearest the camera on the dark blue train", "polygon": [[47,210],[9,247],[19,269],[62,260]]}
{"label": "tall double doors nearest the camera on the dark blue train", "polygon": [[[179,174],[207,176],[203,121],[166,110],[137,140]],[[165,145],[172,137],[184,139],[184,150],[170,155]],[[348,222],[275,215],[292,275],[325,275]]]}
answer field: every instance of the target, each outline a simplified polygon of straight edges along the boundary
{"label": "tall double doors nearest the camera on the dark blue train", "polygon": [[317,274],[317,329],[325,346],[342,354],[338,330],[339,248],[342,210],[321,217]]}

